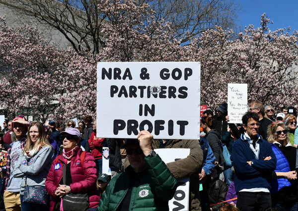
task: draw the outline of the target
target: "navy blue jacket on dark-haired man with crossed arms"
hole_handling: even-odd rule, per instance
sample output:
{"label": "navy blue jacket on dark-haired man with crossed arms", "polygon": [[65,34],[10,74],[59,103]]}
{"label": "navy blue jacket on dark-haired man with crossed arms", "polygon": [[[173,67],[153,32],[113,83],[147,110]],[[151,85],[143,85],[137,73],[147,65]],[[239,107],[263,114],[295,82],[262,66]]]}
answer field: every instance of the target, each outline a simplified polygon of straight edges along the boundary
{"label": "navy blue jacket on dark-haired man with crossed arms", "polygon": [[[259,139],[258,143],[260,146],[259,159],[256,159],[244,135],[241,135],[233,145],[231,160],[235,168],[236,193],[242,189],[268,188],[270,190],[271,188],[270,181],[272,171],[276,168],[276,157],[266,140]],[[268,156],[271,156],[271,160],[264,161]],[[253,166],[250,166],[247,161],[252,161]]]}

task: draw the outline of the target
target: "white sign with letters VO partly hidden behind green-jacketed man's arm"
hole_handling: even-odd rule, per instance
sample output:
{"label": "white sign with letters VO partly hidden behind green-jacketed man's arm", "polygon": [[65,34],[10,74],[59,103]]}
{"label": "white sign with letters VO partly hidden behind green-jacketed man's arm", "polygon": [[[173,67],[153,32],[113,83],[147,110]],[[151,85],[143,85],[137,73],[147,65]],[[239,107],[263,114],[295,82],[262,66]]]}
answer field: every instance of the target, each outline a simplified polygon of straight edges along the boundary
{"label": "white sign with letters VO partly hidden behind green-jacketed man's arm", "polygon": [[[154,149],[164,163],[186,158],[190,149]],[[169,201],[170,211],[188,211],[189,178],[179,180],[174,197]]]}

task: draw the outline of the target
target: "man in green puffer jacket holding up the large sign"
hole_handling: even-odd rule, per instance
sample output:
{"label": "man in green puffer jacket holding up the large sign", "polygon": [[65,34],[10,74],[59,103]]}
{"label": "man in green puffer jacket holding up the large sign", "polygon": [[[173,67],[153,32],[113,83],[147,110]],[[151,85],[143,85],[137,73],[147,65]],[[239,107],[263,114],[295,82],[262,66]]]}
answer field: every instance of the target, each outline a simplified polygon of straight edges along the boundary
{"label": "man in green puffer jacket holding up the large sign", "polygon": [[153,136],[141,131],[127,139],[130,166],[114,177],[103,194],[98,211],[168,211],[177,180],[153,151]]}

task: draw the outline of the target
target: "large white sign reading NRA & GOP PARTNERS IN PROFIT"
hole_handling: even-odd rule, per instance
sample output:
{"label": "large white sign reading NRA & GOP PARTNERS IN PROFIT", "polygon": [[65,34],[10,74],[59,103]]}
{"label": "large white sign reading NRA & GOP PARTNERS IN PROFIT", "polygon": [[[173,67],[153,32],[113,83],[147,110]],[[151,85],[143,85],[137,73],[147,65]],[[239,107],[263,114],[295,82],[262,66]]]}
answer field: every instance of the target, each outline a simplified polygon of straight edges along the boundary
{"label": "large white sign reading NRA & GOP PARTNERS IN PROFIT", "polygon": [[199,139],[200,62],[97,63],[96,136]]}

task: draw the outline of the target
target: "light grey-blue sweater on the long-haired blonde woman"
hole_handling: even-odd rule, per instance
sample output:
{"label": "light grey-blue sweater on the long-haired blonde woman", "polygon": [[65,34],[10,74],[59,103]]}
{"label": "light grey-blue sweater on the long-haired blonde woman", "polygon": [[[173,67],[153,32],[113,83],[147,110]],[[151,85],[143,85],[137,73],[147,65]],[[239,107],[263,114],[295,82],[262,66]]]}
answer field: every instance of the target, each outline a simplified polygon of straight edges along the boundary
{"label": "light grey-blue sweater on the long-haired blonde woman", "polygon": [[[45,187],[46,178],[54,159],[52,146],[42,147],[32,158],[26,158],[22,153],[13,170],[13,177],[21,177],[20,195],[24,194],[25,184],[34,187]],[[27,181],[26,181],[27,180]]]}

